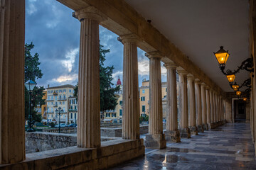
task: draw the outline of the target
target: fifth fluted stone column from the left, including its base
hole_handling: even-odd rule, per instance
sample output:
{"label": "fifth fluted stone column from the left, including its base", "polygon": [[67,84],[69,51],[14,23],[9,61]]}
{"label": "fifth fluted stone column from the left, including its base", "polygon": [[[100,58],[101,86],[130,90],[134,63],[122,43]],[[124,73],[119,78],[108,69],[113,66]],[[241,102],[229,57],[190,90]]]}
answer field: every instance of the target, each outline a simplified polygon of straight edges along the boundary
{"label": "fifth fluted stone column from the left, including its base", "polygon": [[167,69],[167,115],[166,115],[166,141],[181,142],[178,131],[178,111],[177,111],[177,85],[176,85],[176,64],[166,63]]}

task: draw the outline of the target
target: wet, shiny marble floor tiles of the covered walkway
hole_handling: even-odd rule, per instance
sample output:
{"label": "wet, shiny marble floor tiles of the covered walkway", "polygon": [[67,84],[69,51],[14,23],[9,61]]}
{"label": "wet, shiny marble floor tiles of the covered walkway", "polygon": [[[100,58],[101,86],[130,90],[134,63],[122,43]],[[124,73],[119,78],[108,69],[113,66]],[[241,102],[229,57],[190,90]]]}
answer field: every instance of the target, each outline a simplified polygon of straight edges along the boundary
{"label": "wet, shiny marble floor tiles of the covered walkway", "polygon": [[144,157],[116,169],[256,169],[249,123],[227,123],[166,149],[146,149]]}

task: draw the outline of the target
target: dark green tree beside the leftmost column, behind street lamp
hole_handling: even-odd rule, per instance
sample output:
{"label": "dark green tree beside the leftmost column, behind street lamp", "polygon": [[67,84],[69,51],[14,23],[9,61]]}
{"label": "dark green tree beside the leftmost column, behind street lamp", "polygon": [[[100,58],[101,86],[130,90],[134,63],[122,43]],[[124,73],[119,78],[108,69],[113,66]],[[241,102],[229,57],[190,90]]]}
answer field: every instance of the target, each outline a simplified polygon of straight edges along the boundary
{"label": "dark green tree beside the leftmost column, behind street lamp", "polygon": [[[31,55],[31,50],[33,49],[34,45],[33,42],[31,44],[25,44],[25,82],[28,80],[32,80],[36,82],[36,79],[41,79],[43,77],[43,73],[39,68],[41,64],[39,62],[39,55],[36,53],[35,55]],[[41,122],[42,118],[41,115],[36,114],[35,107],[42,106],[45,104],[45,100],[42,99],[43,97],[43,86],[36,86],[31,94],[31,113],[32,119]],[[28,120],[29,114],[29,94],[28,90],[25,88],[25,118]]]}

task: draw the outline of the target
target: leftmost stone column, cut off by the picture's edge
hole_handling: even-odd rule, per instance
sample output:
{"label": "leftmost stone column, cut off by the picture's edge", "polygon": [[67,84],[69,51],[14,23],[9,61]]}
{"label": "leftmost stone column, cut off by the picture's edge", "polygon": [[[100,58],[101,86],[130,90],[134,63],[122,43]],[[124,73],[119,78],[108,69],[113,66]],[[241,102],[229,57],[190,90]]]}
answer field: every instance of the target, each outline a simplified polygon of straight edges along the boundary
{"label": "leftmost stone column, cut off by the picture's edge", "polygon": [[0,164],[14,164],[26,157],[25,0],[0,0],[0,13]]}

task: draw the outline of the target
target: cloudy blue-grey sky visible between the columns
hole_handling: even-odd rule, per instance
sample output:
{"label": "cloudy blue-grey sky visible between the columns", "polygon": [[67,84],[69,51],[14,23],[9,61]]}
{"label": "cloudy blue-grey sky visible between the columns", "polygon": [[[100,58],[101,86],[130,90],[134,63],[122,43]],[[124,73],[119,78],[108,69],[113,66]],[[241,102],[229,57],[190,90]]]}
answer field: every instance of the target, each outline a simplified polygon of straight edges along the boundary
{"label": "cloudy blue-grey sky visible between the columns", "polygon": [[[78,57],[80,41],[80,22],[73,18],[73,10],[55,0],[26,0],[25,43],[35,45],[31,50],[39,54],[42,79],[38,86],[47,87],[63,84],[75,85],[78,82]],[[110,49],[106,55],[105,66],[114,66],[113,84],[118,77],[122,81],[123,45],[118,35],[100,26],[100,44]],[[149,59],[138,48],[139,86],[142,79],[149,79]],[[166,81],[166,69],[161,62],[162,81]]]}

